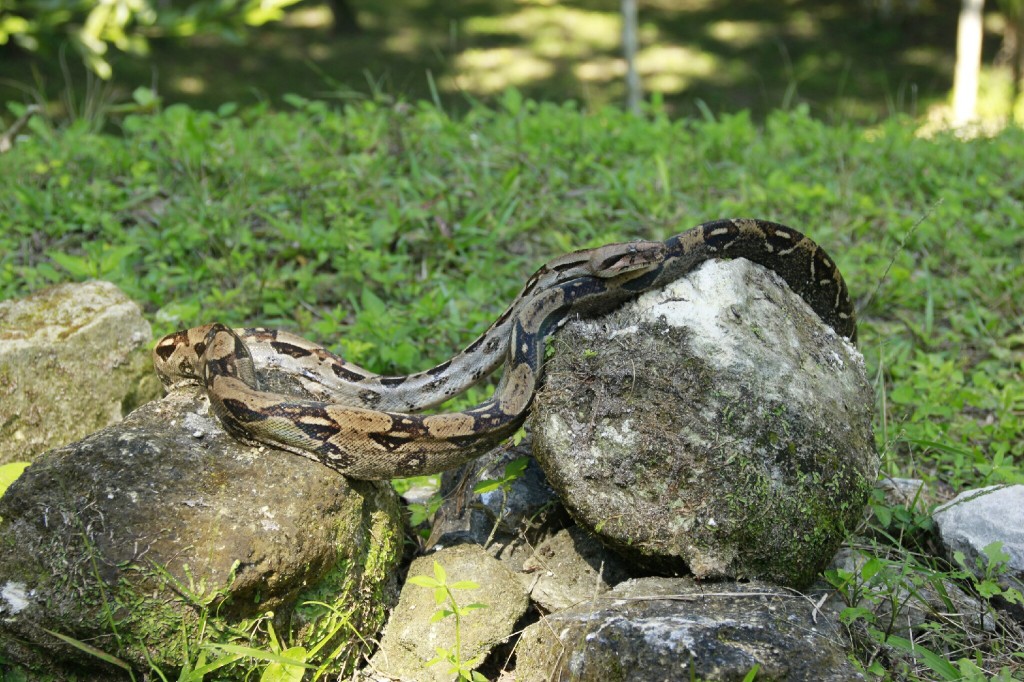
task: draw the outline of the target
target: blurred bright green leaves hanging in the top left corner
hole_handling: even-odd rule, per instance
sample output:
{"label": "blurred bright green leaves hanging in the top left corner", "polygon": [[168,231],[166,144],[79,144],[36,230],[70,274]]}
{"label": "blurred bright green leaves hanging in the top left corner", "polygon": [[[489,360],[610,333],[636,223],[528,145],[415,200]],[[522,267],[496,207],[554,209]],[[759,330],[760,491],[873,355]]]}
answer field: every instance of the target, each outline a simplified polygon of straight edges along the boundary
{"label": "blurred bright green leaves hanging in the top left corner", "polygon": [[217,32],[241,40],[246,27],[280,19],[298,0],[0,0],[0,45],[14,40],[29,50],[52,51],[70,39],[85,63],[100,78],[113,71],[106,59],[113,45],[144,55],[148,39]]}

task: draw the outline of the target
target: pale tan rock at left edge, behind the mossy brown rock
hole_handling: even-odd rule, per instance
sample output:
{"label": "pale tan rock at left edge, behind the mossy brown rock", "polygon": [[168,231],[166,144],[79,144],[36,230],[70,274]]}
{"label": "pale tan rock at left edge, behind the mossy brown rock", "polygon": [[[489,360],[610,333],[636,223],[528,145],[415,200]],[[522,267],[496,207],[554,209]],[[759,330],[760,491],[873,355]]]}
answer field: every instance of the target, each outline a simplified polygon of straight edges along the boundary
{"label": "pale tan rock at left edge, behind the mossy brown rock", "polygon": [[32,461],[158,397],[152,340],[109,282],[0,301],[0,464]]}

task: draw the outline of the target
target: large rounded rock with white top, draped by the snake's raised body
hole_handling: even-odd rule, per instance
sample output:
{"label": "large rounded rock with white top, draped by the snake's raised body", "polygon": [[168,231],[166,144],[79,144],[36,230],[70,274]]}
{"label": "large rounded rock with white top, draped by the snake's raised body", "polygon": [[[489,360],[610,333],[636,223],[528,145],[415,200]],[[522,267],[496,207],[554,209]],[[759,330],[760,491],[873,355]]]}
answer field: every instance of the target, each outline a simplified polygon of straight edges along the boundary
{"label": "large rounded rock with white top, draped by the snake's raised body", "polygon": [[879,459],[863,360],[768,270],[708,262],[555,341],[535,454],[637,566],[810,583]]}

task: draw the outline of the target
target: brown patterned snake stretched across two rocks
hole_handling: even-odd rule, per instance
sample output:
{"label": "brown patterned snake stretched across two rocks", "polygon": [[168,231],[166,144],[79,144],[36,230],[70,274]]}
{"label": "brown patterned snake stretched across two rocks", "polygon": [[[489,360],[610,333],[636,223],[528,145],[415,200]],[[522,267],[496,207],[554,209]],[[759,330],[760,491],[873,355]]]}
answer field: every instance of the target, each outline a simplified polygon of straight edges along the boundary
{"label": "brown patterned snake stretched across two rocks", "polygon": [[[219,323],[165,336],[154,364],[168,390],[205,388],[224,430],[243,442],[301,455],[352,478],[437,473],[519,429],[542,380],[545,340],[570,315],[606,313],[716,258],[745,258],[776,272],[822,322],[856,342],[853,303],[824,249],[779,223],[730,218],[664,242],[609,244],[549,261],[486,331],[424,372],[377,375],[289,332]],[[257,366],[294,377],[305,395],[267,390]],[[482,402],[419,414],[499,366],[501,379]]]}

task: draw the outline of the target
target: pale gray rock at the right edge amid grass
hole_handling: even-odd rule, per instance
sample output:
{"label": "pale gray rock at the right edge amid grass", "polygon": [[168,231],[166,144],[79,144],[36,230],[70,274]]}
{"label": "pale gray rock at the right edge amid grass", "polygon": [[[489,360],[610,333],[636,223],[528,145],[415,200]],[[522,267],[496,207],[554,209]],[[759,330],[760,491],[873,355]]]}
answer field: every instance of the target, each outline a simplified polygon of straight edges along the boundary
{"label": "pale gray rock at the right edge amid grass", "polygon": [[[979,578],[990,564],[985,548],[1001,543],[1009,555],[1005,571],[994,577],[1004,589],[1024,592],[1024,485],[993,485],[965,491],[933,514],[939,539],[952,562],[963,552],[966,563]],[[980,566],[979,566],[980,562]],[[1024,606],[1007,604],[1024,621]]]}

